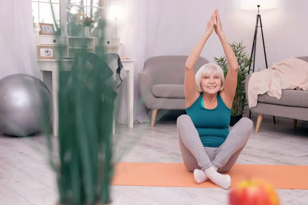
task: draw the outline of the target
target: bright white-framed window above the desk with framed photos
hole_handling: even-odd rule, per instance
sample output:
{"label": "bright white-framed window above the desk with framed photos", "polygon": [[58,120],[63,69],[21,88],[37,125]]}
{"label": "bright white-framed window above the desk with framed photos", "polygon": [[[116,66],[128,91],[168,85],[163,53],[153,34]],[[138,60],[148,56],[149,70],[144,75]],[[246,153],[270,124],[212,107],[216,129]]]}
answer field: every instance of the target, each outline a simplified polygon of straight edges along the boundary
{"label": "bright white-framed window above the desk with framed photos", "polygon": [[[69,36],[83,35],[81,23],[83,16],[91,17],[94,26],[91,27],[91,36],[98,36],[99,19],[105,15],[106,0],[31,0],[34,32],[38,34],[38,23],[53,24],[55,32],[60,28],[67,31]],[[66,13],[64,9],[66,8]],[[62,12],[62,13],[61,13]],[[64,14],[64,13],[65,14]],[[66,35],[63,32],[62,35]]]}

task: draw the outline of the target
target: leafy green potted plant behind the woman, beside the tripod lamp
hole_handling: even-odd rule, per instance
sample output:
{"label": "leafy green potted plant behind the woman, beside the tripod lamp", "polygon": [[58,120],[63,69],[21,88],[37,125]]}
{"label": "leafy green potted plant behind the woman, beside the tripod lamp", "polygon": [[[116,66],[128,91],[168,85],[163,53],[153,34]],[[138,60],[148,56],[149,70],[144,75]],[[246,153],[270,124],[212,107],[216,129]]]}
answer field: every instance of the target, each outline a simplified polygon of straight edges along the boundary
{"label": "leafy green potted plant behind the woman, beside the tripod lamp", "polygon": [[[246,106],[247,103],[246,93],[245,93],[245,80],[249,72],[249,69],[247,69],[247,67],[252,63],[253,58],[249,57],[248,54],[245,52],[246,46],[243,46],[242,42],[240,43],[233,42],[232,44],[229,45],[233,49],[239,64],[237,88],[233,100],[231,119],[230,119],[230,126],[234,126],[236,122],[238,122],[242,118],[244,112],[244,106]],[[224,76],[226,77],[227,72],[229,70],[226,57],[225,56],[221,56],[220,58],[214,57],[214,59],[216,63],[223,69]]]}

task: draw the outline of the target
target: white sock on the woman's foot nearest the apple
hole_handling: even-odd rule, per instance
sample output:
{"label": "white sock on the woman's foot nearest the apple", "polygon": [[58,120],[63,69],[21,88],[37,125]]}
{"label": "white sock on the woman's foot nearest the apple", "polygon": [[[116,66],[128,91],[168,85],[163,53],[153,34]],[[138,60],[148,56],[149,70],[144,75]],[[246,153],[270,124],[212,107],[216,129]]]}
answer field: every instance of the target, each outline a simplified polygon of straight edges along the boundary
{"label": "white sock on the woman's foot nearest the apple", "polygon": [[215,167],[210,167],[204,170],[206,176],[213,181],[216,185],[223,189],[228,189],[231,184],[231,177],[229,175],[223,175],[217,172]]}

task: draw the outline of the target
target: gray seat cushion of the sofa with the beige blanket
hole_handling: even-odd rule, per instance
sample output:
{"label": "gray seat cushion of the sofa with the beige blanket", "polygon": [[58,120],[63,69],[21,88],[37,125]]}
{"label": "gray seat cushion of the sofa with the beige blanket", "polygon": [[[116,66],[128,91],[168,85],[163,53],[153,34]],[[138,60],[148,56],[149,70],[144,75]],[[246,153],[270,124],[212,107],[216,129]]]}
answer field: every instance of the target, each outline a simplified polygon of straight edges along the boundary
{"label": "gray seat cushion of the sofa with the beige blanket", "polygon": [[279,100],[265,93],[258,96],[258,101],[260,103],[308,108],[308,91],[282,90]]}

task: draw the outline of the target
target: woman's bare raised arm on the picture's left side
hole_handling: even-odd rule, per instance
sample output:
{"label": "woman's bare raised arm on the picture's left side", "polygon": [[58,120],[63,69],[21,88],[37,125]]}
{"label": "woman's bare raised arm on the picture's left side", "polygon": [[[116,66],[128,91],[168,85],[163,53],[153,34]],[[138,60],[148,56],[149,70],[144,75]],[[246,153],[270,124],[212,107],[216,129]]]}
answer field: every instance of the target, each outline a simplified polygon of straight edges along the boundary
{"label": "woman's bare raised arm on the picture's left side", "polygon": [[198,44],[194,47],[194,49],[192,49],[185,63],[184,92],[185,92],[186,108],[190,107],[194,103],[194,101],[199,97],[199,92],[197,91],[197,86],[196,86],[194,67],[208,37],[214,30],[215,19],[216,19],[216,10],[211,15],[202,38],[200,39]]}

